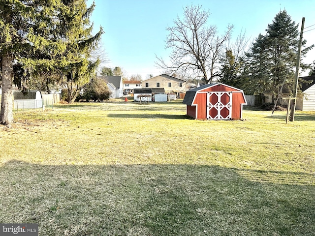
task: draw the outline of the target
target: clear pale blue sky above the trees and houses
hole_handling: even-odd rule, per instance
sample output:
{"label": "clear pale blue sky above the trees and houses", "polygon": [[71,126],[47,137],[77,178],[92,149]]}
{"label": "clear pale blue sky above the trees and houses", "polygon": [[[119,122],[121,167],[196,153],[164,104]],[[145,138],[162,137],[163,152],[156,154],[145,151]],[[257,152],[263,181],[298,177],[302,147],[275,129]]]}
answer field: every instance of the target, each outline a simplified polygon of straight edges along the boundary
{"label": "clear pale blue sky above the trees and houses", "polygon": [[[92,2],[88,0],[87,4]],[[156,55],[168,59],[170,54],[170,50],[165,49],[166,27],[172,27],[178,16],[182,18],[183,8],[191,4],[202,5],[210,11],[208,24],[216,25],[219,33],[223,33],[228,24],[234,25],[232,41],[241,30],[246,31],[251,42],[259,33],[265,34],[268,24],[284,9],[292,21],[299,24],[299,30],[303,17],[304,28],[315,25],[314,0],[95,0],[91,16],[94,33],[100,26],[105,31],[101,45],[107,61],[100,67],[120,66],[126,76],[140,74],[142,79],[149,74],[162,74],[163,70],[156,67],[155,61]],[[314,44],[315,26],[304,31],[307,46]],[[313,60],[315,48],[303,62]]]}

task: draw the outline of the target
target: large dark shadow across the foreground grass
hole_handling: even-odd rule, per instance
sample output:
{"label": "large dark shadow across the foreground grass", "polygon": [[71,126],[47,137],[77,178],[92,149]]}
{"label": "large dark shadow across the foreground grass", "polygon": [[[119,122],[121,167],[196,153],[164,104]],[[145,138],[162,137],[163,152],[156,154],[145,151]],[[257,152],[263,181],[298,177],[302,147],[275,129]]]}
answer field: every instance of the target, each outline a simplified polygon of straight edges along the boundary
{"label": "large dark shadow across the foreground grass", "polygon": [[[287,176],[294,179],[277,183]],[[0,166],[0,222],[37,223],[51,236],[314,235],[314,179],[204,165],[10,161]]]}

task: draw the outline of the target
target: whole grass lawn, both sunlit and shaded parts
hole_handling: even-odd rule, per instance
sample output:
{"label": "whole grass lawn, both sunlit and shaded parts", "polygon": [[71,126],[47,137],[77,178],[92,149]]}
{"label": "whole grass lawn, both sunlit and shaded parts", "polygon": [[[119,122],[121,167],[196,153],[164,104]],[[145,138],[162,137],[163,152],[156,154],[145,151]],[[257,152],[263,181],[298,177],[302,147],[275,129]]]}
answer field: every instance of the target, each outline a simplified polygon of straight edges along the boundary
{"label": "whole grass lawn, both sunlit and shaded parts", "polygon": [[0,127],[0,222],[40,236],[313,236],[315,112],[74,103]]}

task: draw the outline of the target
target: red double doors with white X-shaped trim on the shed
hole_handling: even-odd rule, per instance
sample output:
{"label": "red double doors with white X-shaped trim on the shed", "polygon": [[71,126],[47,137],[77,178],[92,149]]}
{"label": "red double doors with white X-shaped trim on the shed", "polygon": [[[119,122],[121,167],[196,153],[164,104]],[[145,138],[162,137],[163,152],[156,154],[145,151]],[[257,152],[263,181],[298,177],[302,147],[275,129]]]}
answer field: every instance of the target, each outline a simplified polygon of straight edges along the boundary
{"label": "red double doors with white X-shaped trim on the shed", "polygon": [[231,119],[232,92],[207,93],[207,119]]}

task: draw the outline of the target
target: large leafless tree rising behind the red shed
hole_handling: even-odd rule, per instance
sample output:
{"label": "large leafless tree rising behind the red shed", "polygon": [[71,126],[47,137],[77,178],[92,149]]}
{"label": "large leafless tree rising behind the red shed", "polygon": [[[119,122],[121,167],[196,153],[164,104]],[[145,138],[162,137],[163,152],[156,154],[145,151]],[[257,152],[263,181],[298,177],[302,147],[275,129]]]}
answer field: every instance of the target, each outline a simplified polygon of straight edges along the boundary
{"label": "large leafless tree rising behind the red shed", "polygon": [[220,55],[229,41],[232,25],[228,25],[220,35],[215,25],[207,25],[210,12],[201,6],[184,8],[184,18],[174,21],[175,26],[167,27],[166,48],[172,50],[170,64],[157,57],[159,68],[167,69],[170,74],[179,73],[190,77],[203,77],[206,83],[220,77]]}

